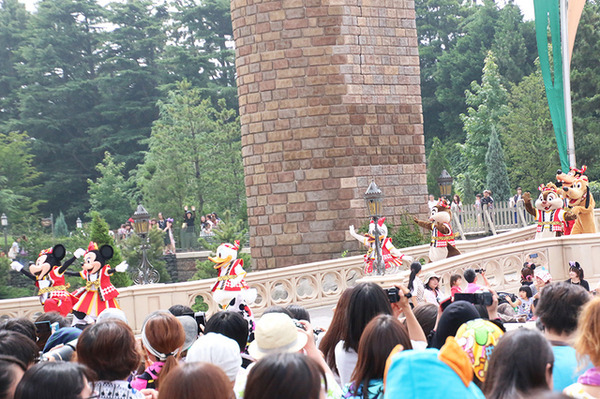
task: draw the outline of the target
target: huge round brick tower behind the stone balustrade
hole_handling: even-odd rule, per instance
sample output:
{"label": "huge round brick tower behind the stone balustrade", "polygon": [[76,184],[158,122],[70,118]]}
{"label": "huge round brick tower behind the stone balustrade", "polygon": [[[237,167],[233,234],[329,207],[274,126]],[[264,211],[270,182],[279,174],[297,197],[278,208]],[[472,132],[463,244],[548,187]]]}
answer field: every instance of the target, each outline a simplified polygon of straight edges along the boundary
{"label": "huge round brick tower behind the stone balustrade", "polygon": [[254,269],[339,257],[366,221],[424,213],[412,0],[232,0]]}

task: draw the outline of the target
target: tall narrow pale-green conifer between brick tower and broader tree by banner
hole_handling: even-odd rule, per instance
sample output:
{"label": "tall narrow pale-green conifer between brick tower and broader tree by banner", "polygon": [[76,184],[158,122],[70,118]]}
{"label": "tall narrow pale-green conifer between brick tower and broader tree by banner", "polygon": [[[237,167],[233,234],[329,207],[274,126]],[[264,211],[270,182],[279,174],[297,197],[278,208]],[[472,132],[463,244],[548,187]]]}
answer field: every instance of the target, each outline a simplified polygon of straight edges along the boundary
{"label": "tall narrow pale-green conifer between brick tower and broader tree by banner", "polygon": [[468,174],[477,191],[486,181],[486,152],[493,126],[508,112],[508,92],[501,83],[494,54],[490,51],[483,67],[481,85],[471,83],[471,91],[466,93],[469,108],[467,115],[461,114],[467,139],[462,154],[468,162]]}

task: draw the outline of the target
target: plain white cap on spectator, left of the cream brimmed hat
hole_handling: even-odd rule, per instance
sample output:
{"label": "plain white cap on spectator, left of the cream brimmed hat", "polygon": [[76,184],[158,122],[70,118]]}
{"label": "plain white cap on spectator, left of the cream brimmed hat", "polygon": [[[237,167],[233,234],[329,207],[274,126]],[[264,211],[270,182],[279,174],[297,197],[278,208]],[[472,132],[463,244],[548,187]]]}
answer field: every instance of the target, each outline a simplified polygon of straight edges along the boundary
{"label": "plain white cap on spectator, left of the cream brimmed hat", "polygon": [[186,362],[207,362],[218,366],[234,382],[240,367],[242,356],[237,342],[221,334],[202,335],[188,350]]}

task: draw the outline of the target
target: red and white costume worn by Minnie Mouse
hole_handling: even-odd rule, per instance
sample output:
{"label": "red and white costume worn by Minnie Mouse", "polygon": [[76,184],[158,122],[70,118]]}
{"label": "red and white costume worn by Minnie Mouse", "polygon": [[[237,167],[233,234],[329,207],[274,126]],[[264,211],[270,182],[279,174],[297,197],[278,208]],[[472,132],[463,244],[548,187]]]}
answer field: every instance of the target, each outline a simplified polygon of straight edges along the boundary
{"label": "red and white costume worn by Minnie Mouse", "polygon": [[104,309],[119,308],[116,297],[119,292],[110,282],[109,265],[103,266],[97,273],[82,270],[79,274],[86,283],[73,293],[78,301],[73,310],[97,317]]}

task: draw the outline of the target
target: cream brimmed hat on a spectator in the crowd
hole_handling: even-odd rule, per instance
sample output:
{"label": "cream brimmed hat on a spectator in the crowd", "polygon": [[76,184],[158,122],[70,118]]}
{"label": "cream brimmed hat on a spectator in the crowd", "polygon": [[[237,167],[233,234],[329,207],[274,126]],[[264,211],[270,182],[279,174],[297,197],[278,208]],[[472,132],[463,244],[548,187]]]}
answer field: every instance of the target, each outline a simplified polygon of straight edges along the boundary
{"label": "cream brimmed hat on a spectator in the crowd", "polygon": [[256,323],[254,341],[248,347],[248,353],[260,359],[272,353],[298,352],[304,348],[307,339],[288,315],[267,313]]}

